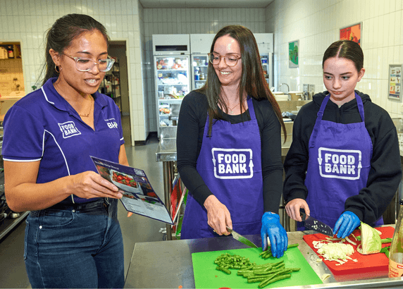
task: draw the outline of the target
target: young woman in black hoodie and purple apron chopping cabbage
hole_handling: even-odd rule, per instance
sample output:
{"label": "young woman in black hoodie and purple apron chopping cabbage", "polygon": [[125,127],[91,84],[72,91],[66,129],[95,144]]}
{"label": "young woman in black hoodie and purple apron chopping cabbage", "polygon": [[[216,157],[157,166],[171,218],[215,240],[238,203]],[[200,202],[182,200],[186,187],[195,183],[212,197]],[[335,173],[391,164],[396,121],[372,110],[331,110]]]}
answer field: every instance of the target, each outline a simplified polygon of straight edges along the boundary
{"label": "young woman in black hoodie and purple apron chopping cabbage", "polygon": [[[364,76],[364,54],[356,42],[340,40],[323,56],[327,91],[316,94],[295,118],[285,159],[287,214],[299,210],[333,228],[337,238],[360,221],[383,225],[400,179],[399,142],[387,111],[354,90]],[[302,223],[299,230],[304,230]]]}

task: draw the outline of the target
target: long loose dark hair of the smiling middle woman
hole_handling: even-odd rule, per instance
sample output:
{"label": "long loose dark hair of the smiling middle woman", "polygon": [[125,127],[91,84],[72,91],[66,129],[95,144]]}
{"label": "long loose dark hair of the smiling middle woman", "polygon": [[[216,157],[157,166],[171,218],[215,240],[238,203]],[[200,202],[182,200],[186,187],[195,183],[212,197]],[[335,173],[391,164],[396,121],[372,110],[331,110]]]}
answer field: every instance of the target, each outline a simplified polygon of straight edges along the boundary
{"label": "long loose dark hair of the smiling middle woman", "polygon": [[[217,39],[224,35],[229,35],[233,39],[237,40],[238,44],[240,44],[242,74],[239,86],[239,99],[241,104],[241,113],[244,111],[244,92],[247,92],[247,95],[253,97],[254,99],[268,99],[268,101],[271,103],[271,106],[273,106],[273,110],[278,118],[278,121],[283,127],[284,139],[286,140],[287,131],[285,130],[283,116],[281,116],[280,106],[278,106],[278,103],[275,101],[275,98],[268,87],[268,83],[264,78],[259,49],[253,33],[247,27],[243,27],[241,25],[225,26],[221,28],[221,30],[217,32],[216,37],[214,37],[210,52],[213,52],[214,44],[216,44]],[[213,64],[209,62],[206,84],[197,90],[203,94],[206,94],[209,102],[208,135],[211,135],[213,119],[223,119],[223,116],[221,116],[221,113],[218,111],[218,105],[221,106],[224,111],[228,111],[227,105],[220,97],[222,90],[223,88],[221,87],[221,82],[216,75]]]}

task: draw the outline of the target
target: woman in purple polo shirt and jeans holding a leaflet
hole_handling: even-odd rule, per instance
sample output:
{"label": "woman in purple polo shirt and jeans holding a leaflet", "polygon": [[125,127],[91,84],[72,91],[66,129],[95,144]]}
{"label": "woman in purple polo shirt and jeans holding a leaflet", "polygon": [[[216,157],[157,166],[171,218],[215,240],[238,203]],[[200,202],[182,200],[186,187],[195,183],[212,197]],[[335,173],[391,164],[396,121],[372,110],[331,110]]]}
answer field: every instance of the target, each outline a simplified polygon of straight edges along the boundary
{"label": "woman in purple polo shirt and jeans holding a leaflet", "polygon": [[4,118],[6,199],[30,211],[25,266],[32,288],[122,288],[118,187],[89,156],[128,165],[120,111],[97,90],[113,66],[101,23],[81,14],[47,33],[43,86]]}

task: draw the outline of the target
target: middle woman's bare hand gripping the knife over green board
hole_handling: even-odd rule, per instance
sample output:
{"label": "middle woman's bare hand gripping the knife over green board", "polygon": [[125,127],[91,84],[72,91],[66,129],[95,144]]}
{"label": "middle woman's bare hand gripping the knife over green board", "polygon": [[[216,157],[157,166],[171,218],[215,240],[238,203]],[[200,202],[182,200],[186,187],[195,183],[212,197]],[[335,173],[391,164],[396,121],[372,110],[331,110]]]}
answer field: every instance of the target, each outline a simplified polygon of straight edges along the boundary
{"label": "middle woman's bare hand gripping the knife over green board", "polygon": [[233,228],[230,211],[214,195],[207,197],[204,201],[207,210],[207,223],[218,235],[230,235],[227,226]]}

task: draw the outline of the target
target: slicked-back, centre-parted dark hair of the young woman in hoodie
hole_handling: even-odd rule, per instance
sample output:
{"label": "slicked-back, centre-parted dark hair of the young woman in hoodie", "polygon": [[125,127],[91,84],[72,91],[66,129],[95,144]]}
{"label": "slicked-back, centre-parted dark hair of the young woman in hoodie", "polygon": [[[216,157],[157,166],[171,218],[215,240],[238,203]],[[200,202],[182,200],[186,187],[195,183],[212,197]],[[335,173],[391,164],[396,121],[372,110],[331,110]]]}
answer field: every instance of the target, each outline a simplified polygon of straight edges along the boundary
{"label": "slicked-back, centre-parted dark hair of the young woman in hoodie", "polygon": [[359,44],[352,40],[338,40],[330,44],[330,47],[323,54],[322,68],[325,65],[325,61],[332,57],[353,61],[358,72],[364,67],[364,53]]}

